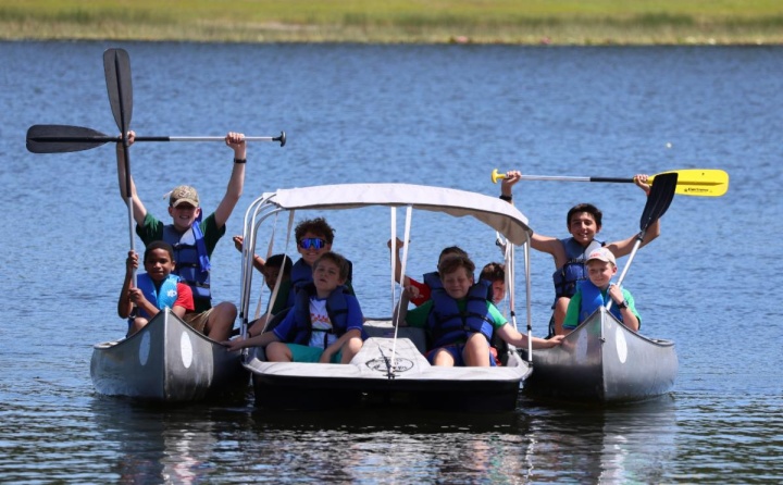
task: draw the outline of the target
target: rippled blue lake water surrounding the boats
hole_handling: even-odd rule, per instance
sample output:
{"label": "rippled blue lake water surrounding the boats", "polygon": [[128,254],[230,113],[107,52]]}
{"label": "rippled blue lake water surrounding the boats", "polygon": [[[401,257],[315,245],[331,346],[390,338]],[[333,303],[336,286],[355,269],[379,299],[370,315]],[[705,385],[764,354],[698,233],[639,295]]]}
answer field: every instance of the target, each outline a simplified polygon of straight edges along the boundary
{"label": "rippled blue lake water surrounding the boats", "polygon": [[[128,227],[114,149],[33,154],[24,137],[34,124],[117,132],[102,67],[109,47],[130,54],[139,135],[287,133],[284,148],[249,147],[229,235],[254,197],[284,187],[406,182],[494,195],[495,167],[728,171],[725,196],[674,199],[625,279],[643,333],[676,341],[674,391],[610,408],[523,395],[514,412],[489,416],[271,413],[250,396],[149,407],[96,395],[91,346],[125,331],[115,304]],[[783,481],[783,48],[4,42],[0,59],[0,481]],[[213,209],[232,153],[220,142],[139,142],[132,161],[142,200],[162,217],[163,195],[181,183]],[[567,210],[582,201],[604,210],[607,240],[638,231],[644,197],[630,184],[523,182],[514,198],[533,229],[560,237]],[[380,278],[388,223],[327,216],[335,248],[355,261],[364,312],[388,314]],[[409,273],[431,271],[451,244],[477,262],[498,259],[493,242],[494,233],[462,220],[414,220]],[[238,302],[239,253],[227,237],[213,265],[216,298]],[[532,269],[542,335],[552,264],[533,253]]]}

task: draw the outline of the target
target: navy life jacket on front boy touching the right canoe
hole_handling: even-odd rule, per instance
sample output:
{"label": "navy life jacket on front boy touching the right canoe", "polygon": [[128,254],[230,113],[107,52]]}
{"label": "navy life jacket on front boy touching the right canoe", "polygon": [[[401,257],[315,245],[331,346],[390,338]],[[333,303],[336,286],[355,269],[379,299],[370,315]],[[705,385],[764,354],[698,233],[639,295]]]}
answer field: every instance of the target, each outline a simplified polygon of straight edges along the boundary
{"label": "navy life jacket on front boy touching the right canoe", "polygon": [[433,290],[433,308],[427,316],[431,348],[464,341],[475,333],[492,341],[494,321],[487,308],[487,287],[490,285],[485,279],[471,286],[463,311],[460,311],[457,300],[448,296],[445,289]]}

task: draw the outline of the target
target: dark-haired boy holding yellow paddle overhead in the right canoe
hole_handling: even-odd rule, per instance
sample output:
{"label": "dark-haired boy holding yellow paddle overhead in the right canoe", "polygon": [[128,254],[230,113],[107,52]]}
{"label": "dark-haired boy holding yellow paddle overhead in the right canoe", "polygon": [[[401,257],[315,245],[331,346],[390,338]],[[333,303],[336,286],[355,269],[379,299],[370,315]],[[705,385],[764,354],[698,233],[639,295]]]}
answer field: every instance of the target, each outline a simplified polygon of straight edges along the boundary
{"label": "dark-haired boy holding yellow paddle overhead in the right canoe", "polygon": [[[520,181],[522,174],[518,171],[506,173],[500,184],[500,198],[511,203],[511,189]],[[638,174],[634,176],[634,183],[645,194],[649,195],[650,186],[647,184],[648,176]],[[562,322],[566,318],[566,310],[569,299],[576,290],[576,284],[587,278],[585,274],[585,261],[587,254],[599,247],[609,249],[616,258],[622,258],[631,253],[636,240],[636,235],[627,239],[614,242],[604,242],[595,238],[601,229],[602,213],[593,204],[581,203],[571,208],[566,216],[566,224],[571,237],[557,239],[550,236],[533,234],[531,247],[538,251],[548,252],[555,259],[555,303],[552,304],[552,322],[550,323],[550,335],[562,335]],[[660,235],[660,220],[656,220],[647,228],[641,247]]]}

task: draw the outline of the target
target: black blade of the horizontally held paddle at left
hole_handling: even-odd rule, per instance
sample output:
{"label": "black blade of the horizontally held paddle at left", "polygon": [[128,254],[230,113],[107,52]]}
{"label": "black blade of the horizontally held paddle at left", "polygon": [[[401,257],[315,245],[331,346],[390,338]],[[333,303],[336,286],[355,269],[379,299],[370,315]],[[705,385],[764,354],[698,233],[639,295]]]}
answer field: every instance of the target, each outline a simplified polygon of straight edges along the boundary
{"label": "black blade of the horizontally held paddle at left", "polygon": [[119,141],[95,129],[69,125],[33,125],[27,129],[27,150],[33,153],[65,153],[89,150]]}

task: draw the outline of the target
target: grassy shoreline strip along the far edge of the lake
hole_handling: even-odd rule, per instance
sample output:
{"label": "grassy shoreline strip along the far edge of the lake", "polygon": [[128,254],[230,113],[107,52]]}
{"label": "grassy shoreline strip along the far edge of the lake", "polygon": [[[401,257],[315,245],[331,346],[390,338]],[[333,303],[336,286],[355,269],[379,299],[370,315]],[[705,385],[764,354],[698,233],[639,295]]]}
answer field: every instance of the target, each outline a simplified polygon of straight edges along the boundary
{"label": "grassy shoreline strip along the far edge of the lake", "polygon": [[778,0],[0,0],[4,40],[782,45]]}

